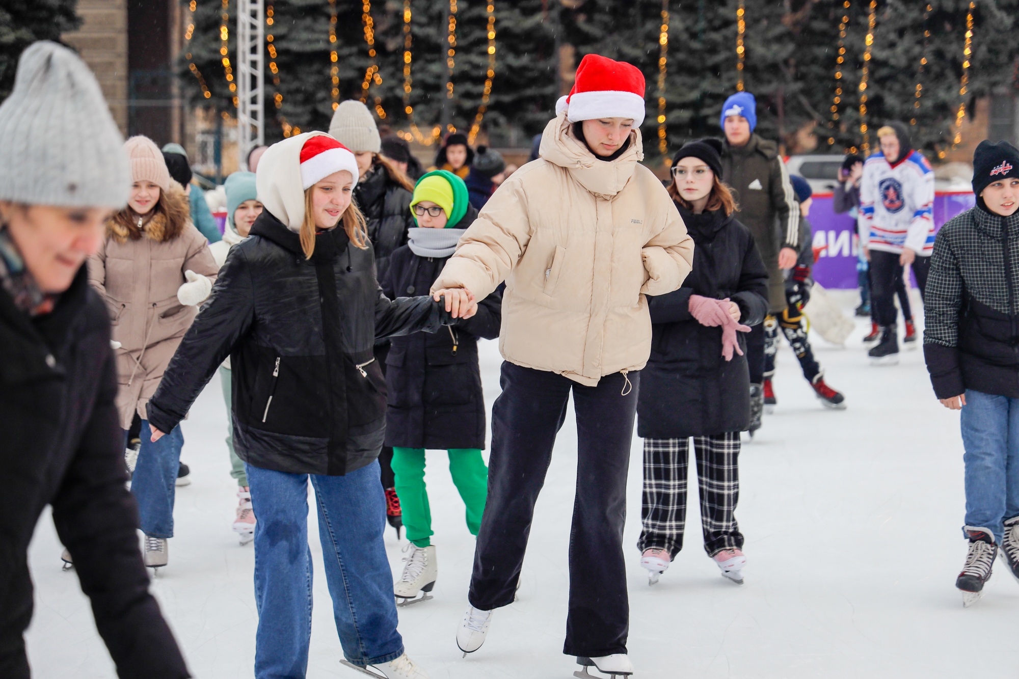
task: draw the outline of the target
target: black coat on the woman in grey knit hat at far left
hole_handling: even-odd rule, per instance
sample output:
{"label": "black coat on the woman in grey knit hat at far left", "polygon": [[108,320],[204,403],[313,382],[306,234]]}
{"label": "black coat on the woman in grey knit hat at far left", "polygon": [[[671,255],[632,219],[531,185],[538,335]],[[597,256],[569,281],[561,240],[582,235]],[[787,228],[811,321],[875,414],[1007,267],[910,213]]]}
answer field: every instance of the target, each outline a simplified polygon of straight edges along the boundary
{"label": "black coat on the woman in grey knit hat at far left", "polygon": [[[26,557],[47,504],[118,675],[189,676],[149,593],[138,509],[124,487],[116,395],[106,305],[89,286],[84,266],[53,312],[35,318],[18,311],[0,288],[0,676],[5,679],[29,676],[21,638],[33,608]],[[57,555],[52,557],[56,564]]]}

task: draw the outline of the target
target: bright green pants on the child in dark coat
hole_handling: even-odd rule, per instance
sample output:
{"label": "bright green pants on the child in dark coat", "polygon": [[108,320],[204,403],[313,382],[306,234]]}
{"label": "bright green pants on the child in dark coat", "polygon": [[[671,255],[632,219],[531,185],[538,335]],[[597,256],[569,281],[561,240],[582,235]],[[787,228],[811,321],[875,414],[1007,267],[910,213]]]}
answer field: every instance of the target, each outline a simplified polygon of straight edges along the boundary
{"label": "bright green pants on the child in dark coat", "polygon": [[[467,506],[467,528],[472,535],[481,528],[481,515],[488,495],[488,467],[476,448],[451,449],[449,474]],[[425,451],[420,448],[393,448],[392,471],[396,477],[396,495],[404,511],[407,539],[419,547],[430,545],[432,512],[425,487]]]}

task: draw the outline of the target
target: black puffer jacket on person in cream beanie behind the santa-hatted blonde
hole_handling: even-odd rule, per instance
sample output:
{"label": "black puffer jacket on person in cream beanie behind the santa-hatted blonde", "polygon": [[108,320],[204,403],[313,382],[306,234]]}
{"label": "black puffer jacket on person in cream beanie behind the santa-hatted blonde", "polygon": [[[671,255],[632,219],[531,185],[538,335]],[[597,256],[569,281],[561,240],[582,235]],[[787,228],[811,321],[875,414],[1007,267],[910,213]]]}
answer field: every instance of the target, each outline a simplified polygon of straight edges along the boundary
{"label": "black puffer jacket on person in cream beanie behind the santa-hatted blonde", "polygon": [[411,216],[412,196],[379,163],[354,188],[354,200],[365,215],[368,238],[375,248],[375,269],[379,280],[385,279],[389,256],[407,243],[407,229],[417,226]]}

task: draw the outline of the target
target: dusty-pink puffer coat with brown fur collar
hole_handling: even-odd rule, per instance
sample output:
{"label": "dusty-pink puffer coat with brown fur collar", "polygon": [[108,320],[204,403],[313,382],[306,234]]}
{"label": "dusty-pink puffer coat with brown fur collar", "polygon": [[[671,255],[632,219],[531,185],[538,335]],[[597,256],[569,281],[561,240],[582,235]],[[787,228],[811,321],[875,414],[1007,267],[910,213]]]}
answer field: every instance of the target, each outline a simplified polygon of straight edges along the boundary
{"label": "dusty-pink puffer coat with brown fur collar", "polygon": [[187,198],[172,182],[164,197],[166,213],[157,213],[143,229],[123,210],[106,222],[106,239],[89,258],[89,282],[110,310],[117,377],[120,426],[130,428],[135,413],[148,419],[146,404],[156,393],[167,364],[198,315],[177,291],[189,269],[215,280],[218,267],[208,242],[189,218]]}

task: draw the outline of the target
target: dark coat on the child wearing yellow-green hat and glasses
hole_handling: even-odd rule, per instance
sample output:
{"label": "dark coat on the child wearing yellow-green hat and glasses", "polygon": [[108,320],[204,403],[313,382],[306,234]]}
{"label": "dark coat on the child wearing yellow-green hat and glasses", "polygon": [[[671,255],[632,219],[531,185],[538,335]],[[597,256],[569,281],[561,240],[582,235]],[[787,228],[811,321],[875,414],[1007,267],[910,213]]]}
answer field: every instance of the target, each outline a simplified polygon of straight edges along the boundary
{"label": "dark coat on the child wearing yellow-green hat and glasses", "polygon": [[[419,257],[404,246],[392,254],[382,290],[389,297],[427,293],[448,259]],[[478,337],[497,337],[501,320],[502,292],[497,290],[457,327],[393,337],[386,357],[386,446],[485,448]]]}

